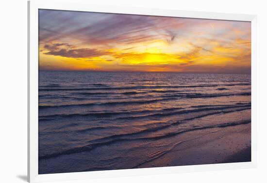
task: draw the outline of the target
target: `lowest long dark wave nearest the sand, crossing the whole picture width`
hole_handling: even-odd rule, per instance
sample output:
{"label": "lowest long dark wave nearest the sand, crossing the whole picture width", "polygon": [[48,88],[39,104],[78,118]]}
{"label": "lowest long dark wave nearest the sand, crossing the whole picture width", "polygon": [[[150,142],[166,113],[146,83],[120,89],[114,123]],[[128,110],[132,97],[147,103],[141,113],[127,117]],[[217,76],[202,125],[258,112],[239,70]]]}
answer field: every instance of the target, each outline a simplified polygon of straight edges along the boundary
{"label": "lowest long dark wave nearest the sand, crossing the whole picture width", "polygon": [[[224,128],[227,126],[234,126],[234,125],[239,125],[239,124],[247,124],[250,123],[250,120],[246,120],[246,121],[238,121],[238,122],[227,122],[227,123],[223,123],[223,124],[214,124],[214,125],[208,125],[208,126],[200,126],[200,127],[193,127],[187,130],[183,130],[183,131],[178,131],[178,132],[172,132],[172,133],[167,133],[161,136],[155,136],[155,137],[137,137],[137,138],[116,138],[116,137],[125,137],[125,135],[114,135],[114,136],[110,136],[110,138],[115,138],[115,139],[111,139],[111,140],[107,140],[107,141],[103,141],[103,142],[96,142],[96,143],[92,143],[92,144],[88,144],[86,146],[81,146],[81,147],[75,147],[72,149],[68,149],[62,152],[55,152],[55,153],[51,153],[51,154],[46,154],[46,155],[40,155],[39,159],[48,159],[48,158],[53,158],[53,157],[57,157],[60,155],[66,155],[66,154],[73,154],[73,153],[79,153],[79,152],[88,152],[91,151],[97,147],[100,146],[104,146],[104,145],[110,145],[112,143],[118,142],[118,141],[133,141],[133,140],[157,140],[157,139],[163,139],[163,138],[167,138],[167,137],[173,137],[173,136],[177,136],[179,134],[185,133],[185,132],[190,132],[190,131],[195,131],[195,130],[203,130],[203,129],[208,129],[208,128]],[[159,128],[159,127],[158,127]],[[143,130],[143,132],[149,132],[149,130],[151,131],[152,129],[148,129],[148,130]],[[157,130],[157,129],[154,129]],[[137,133],[137,132],[136,132]],[[132,133],[132,134],[127,134],[127,135],[135,135],[136,133]],[[138,132],[141,133],[141,132]]]}

